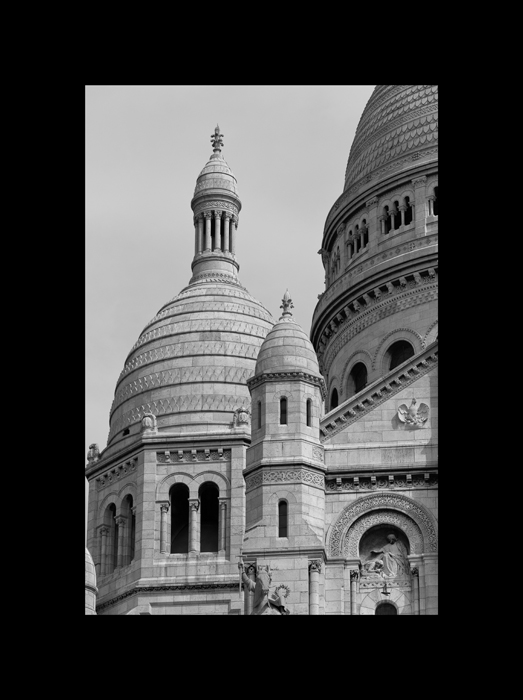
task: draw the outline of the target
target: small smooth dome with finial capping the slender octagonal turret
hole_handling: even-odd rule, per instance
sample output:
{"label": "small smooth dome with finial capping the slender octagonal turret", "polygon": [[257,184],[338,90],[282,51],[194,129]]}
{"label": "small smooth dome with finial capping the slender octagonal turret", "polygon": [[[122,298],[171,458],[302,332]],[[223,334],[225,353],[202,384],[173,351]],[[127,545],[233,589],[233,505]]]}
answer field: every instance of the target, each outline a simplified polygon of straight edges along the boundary
{"label": "small smooth dome with finial capping the slender octagonal turret", "polygon": [[318,358],[303,328],[289,311],[292,300],[285,293],[283,316],[263,341],[256,361],[255,375],[268,372],[307,372],[321,377]]}

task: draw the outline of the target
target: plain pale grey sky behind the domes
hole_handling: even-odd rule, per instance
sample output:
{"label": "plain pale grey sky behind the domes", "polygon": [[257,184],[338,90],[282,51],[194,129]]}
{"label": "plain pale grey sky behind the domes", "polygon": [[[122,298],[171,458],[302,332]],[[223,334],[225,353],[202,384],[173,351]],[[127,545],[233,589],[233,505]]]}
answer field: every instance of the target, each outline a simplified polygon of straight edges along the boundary
{"label": "plain pale grey sky behind the domes", "polygon": [[374,87],[86,87],[86,454],[107,444],[129,350],[191,277],[190,203],[214,127],[242,202],[240,282],[275,320],[288,287],[309,333],[325,219]]}

